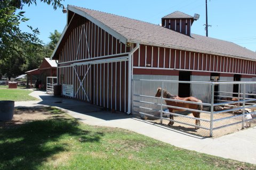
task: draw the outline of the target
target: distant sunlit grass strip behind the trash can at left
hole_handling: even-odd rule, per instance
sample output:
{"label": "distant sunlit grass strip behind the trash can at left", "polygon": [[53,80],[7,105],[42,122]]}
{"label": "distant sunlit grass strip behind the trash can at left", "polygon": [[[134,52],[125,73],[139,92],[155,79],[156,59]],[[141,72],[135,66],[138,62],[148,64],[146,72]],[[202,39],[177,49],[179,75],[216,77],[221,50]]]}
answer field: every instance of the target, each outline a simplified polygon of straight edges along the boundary
{"label": "distant sunlit grass strip behind the trash can at left", "polygon": [[0,100],[32,101],[38,100],[30,95],[32,91],[21,89],[0,88]]}

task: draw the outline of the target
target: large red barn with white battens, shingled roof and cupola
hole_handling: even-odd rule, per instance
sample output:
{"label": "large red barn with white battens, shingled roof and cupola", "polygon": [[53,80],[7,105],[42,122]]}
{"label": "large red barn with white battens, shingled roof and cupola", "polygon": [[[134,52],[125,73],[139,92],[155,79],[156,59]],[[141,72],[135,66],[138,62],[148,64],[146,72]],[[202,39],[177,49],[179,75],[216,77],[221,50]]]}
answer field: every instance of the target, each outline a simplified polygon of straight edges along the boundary
{"label": "large red barn with white battens, shingled roof and cupola", "polygon": [[[193,17],[178,11],[163,17],[158,26],[68,5],[67,25],[51,56],[59,60],[63,95],[130,113],[132,78],[233,81],[256,77],[255,52],[191,34],[193,22]],[[203,87],[177,84],[172,88],[180,96],[196,93],[209,100]]]}

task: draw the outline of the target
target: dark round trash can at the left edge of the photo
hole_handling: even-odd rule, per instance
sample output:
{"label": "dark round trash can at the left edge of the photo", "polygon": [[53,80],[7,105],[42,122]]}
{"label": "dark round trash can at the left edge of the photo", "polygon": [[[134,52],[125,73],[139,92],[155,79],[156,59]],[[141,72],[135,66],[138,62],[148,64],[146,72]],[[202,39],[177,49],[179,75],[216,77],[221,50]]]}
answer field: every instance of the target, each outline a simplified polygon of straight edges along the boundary
{"label": "dark round trash can at the left edge of the photo", "polygon": [[0,120],[12,120],[14,111],[14,101],[0,101]]}

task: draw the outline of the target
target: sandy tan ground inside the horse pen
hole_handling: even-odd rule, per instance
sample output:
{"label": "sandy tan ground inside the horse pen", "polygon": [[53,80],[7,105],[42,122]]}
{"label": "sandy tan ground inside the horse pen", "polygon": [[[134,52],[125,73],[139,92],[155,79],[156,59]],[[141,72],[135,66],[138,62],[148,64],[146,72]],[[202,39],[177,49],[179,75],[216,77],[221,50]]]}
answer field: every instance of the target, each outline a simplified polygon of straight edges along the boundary
{"label": "sandy tan ground inside the horse pen", "polygon": [[[250,112],[251,112],[251,110],[250,110]],[[241,114],[241,113],[239,113],[239,114]],[[223,136],[226,134],[241,131],[243,117],[242,117],[242,115],[239,115],[239,114],[233,113],[233,112],[223,112],[221,114],[214,114],[214,116],[213,116],[214,120],[222,119],[222,118],[224,118],[224,119],[213,123],[213,128],[215,128],[213,130],[213,137],[220,137],[220,136]],[[149,115],[152,115],[152,116],[150,117]],[[157,124],[161,123],[161,120],[159,119],[159,112],[158,112],[158,114],[157,114],[157,112],[150,112],[150,114],[147,113],[147,115],[138,114],[135,116],[137,116],[138,118],[141,118],[141,119],[146,119],[149,122],[153,122],[153,123],[157,123]],[[165,127],[175,128],[175,129],[178,129],[179,131],[190,133],[193,135],[198,135],[201,137],[210,136],[210,131],[209,131],[210,122],[201,121],[201,127],[208,128],[208,129],[204,129],[204,128],[195,129],[194,126],[189,125],[189,124],[191,124],[191,125],[195,124],[195,120],[193,119],[194,116],[192,114],[187,114],[187,116],[192,117],[192,119],[187,118],[187,117],[182,117],[182,115],[174,116],[174,120],[178,121],[178,122],[175,122],[172,126],[167,125],[167,124],[169,124],[169,116],[164,116],[163,117],[164,119],[163,119],[163,122],[161,125],[163,125]],[[237,117],[234,117],[234,116],[237,116]],[[228,117],[231,117],[231,118],[228,118]],[[252,117],[254,117],[254,115],[252,115]],[[205,119],[205,120],[210,120],[211,115],[201,113],[200,118]],[[225,119],[225,118],[228,118],[228,119]],[[230,125],[230,126],[226,126],[226,125]],[[252,120],[250,120],[250,122],[244,123],[244,128],[250,128],[253,126],[256,126],[256,119],[252,119]]]}

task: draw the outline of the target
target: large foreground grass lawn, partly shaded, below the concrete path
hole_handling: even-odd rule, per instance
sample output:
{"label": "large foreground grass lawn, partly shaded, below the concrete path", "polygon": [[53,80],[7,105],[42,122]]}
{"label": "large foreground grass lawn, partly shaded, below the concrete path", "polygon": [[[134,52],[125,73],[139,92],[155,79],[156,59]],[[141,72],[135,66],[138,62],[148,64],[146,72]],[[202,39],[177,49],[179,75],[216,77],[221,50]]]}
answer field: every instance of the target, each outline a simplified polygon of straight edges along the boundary
{"label": "large foreground grass lawn, partly shaded, below the concrete path", "polygon": [[51,112],[54,119],[0,128],[0,169],[256,169]]}

